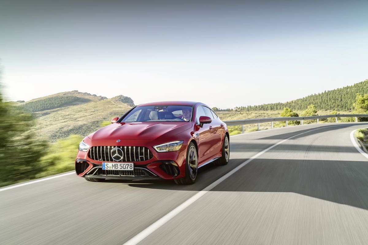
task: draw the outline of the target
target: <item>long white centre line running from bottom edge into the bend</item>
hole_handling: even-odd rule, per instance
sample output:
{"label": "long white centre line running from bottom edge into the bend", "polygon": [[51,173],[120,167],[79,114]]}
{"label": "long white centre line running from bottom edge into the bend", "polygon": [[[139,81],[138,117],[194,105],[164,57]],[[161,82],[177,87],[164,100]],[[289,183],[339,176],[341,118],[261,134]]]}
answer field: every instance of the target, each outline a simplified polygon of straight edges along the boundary
{"label": "long white centre line running from bottom edge into the bend", "polygon": [[[346,125],[334,125],[334,126],[328,126],[328,127],[341,127],[341,126],[346,126]],[[141,231],[140,233],[138,233],[137,235],[135,235],[134,237],[132,237],[129,241],[125,242],[123,245],[136,245],[136,244],[138,244],[138,242],[140,242],[144,238],[148,237],[148,235],[151,234],[151,233],[153,233],[153,231],[155,231],[158,228],[160,228],[161,226],[163,226],[163,224],[165,224],[167,221],[169,221],[170,219],[172,219],[173,217],[175,217],[178,213],[180,213],[181,211],[183,211],[189,205],[191,205],[192,203],[194,203],[195,201],[197,201],[200,197],[202,197],[208,191],[210,191],[213,188],[215,188],[216,185],[218,185],[222,181],[226,180],[229,176],[231,176],[231,174],[237,172],[239,169],[241,169],[242,167],[244,167],[245,165],[247,165],[253,159],[255,159],[258,156],[262,155],[263,153],[269,151],[273,147],[275,147],[275,146],[277,146],[279,144],[282,144],[285,141],[290,140],[291,138],[297,137],[297,136],[299,136],[301,134],[306,134],[306,133],[309,133],[311,131],[315,131],[315,130],[319,130],[319,129],[325,129],[325,128],[327,128],[327,127],[312,129],[312,130],[309,130],[309,131],[306,131],[306,132],[303,132],[303,133],[300,133],[300,134],[296,134],[294,136],[291,136],[291,137],[289,137],[287,139],[284,139],[284,140],[282,140],[282,141],[280,141],[280,142],[278,142],[278,143],[276,143],[276,144],[268,147],[267,149],[265,149],[265,150],[263,150],[261,152],[258,152],[257,154],[255,154],[254,156],[252,156],[251,158],[249,158],[247,161],[241,163],[239,166],[237,166],[236,168],[234,168],[233,170],[231,170],[229,173],[225,174],[220,179],[218,179],[215,182],[213,182],[212,184],[208,185],[202,191],[199,191],[193,197],[189,198],[187,201],[183,202],[182,204],[180,204],[179,206],[177,206],[176,208],[174,208],[173,210],[171,210],[171,212],[167,213],[167,215],[163,216],[161,219],[159,219],[155,223],[151,224],[151,226],[145,228],[143,231]]]}

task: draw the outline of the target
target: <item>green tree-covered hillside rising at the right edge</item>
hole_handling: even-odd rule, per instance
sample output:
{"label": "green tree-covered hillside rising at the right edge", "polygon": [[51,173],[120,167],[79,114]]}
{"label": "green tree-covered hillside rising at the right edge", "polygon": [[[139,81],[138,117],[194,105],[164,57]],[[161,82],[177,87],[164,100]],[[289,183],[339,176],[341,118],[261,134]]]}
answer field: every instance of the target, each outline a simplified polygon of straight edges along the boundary
{"label": "green tree-covered hillside rising at the right edge", "polygon": [[368,80],[340,89],[312,94],[289,102],[278,102],[255,106],[248,105],[237,108],[245,111],[273,111],[289,107],[292,110],[303,111],[308,107],[308,105],[314,104],[319,110],[323,111],[352,111],[357,93],[368,94]]}

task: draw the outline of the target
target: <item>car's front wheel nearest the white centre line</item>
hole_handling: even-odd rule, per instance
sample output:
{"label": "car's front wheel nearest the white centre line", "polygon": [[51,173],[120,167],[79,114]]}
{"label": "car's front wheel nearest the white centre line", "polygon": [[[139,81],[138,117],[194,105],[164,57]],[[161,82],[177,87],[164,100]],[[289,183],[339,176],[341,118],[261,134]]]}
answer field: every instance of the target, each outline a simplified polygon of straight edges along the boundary
{"label": "car's front wheel nearest the white centre line", "polygon": [[198,172],[198,154],[195,145],[191,142],[188,145],[187,157],[185,158],[185,177],[175,179],[175,183],[181,185],[194,184]]}

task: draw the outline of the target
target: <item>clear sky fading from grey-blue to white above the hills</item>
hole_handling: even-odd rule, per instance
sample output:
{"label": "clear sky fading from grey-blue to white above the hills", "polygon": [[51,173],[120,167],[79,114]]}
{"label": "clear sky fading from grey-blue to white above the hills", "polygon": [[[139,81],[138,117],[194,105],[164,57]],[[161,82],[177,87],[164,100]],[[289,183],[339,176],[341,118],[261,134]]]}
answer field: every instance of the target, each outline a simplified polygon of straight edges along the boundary
{"label": "clear sky fading from grey-blue to white above the hills", "polygon": [[367,16],[368,0],[1,0],[1,92],[291,101],[368,79]]}

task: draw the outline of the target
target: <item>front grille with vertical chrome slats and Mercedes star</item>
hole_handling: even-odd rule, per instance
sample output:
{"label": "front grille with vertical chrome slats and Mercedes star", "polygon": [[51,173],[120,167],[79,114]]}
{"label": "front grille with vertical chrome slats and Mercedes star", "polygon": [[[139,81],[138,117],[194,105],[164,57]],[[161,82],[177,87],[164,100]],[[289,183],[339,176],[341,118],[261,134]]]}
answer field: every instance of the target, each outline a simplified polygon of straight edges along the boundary
{"label": "front grille with vertical chrome slats and Mercedes star", "polygon": [[141,162],[151,159],[153,154],[142,146],[93,146],[88,157],[106,162]]}

